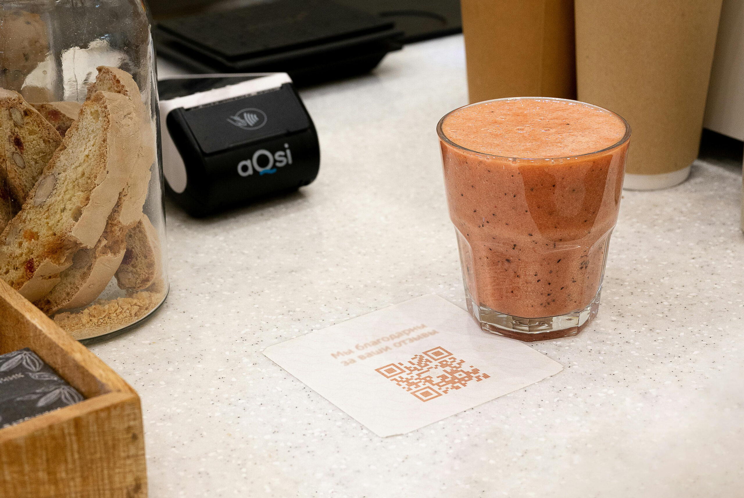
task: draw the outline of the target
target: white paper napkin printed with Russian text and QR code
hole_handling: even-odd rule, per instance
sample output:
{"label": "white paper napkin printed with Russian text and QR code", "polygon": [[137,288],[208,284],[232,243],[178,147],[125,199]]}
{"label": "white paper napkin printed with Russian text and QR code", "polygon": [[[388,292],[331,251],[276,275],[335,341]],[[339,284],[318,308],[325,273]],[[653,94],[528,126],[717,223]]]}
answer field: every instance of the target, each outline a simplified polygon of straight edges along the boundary
{"label": "white paper napkin printed with Russian text and QR code", "polygon": [[518,340],[483,332],[435,294],[263,352],[378,436],[408,433],[557,374]]}

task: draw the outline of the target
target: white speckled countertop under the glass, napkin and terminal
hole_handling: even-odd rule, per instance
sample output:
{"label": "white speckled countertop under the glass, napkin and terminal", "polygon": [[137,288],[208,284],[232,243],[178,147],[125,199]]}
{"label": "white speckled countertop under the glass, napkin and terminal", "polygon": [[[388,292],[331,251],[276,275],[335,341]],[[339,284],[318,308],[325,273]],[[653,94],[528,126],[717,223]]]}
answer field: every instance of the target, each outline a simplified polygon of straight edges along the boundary
{"label": "white speckled countertop under the glass, napkin and terminal", "polygon": [[167,302],[92,346],[141,395],[150,497],[744,496],[739,173],[624,193],[597,320],[532,345],[563,372],[380,439],[261,349],[421,294],[464,307],[434,130],[466,103],[462,38],[301,94],[315,183],[167,204]]}

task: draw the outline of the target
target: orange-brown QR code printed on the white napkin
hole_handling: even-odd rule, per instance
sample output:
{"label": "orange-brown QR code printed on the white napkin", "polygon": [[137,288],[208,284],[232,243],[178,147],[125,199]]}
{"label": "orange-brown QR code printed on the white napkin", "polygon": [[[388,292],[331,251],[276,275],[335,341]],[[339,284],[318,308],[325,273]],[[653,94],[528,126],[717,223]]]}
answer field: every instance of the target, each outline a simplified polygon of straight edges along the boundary
{"label": "orange-brown QR code printed on the white napkin", "polygon": [[429,349],[405,363],[390,363],[375,369],[380,375],[419,398],[429,401],[490,377],[443,347]]}

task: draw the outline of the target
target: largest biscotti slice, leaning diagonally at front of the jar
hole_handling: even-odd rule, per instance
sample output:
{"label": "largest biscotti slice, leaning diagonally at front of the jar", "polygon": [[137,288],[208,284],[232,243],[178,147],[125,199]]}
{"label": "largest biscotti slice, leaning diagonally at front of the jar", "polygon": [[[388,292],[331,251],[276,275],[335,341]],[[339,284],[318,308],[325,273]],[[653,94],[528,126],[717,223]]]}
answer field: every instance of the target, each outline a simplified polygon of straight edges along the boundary
{"label": "largest biscotti slice, leaning diagonally at front of the jar", "polygon": [[93,248],[139,148],[134,106],[97,92],[0,235],[0,278],[28,300],[44,297],[80,248]]}

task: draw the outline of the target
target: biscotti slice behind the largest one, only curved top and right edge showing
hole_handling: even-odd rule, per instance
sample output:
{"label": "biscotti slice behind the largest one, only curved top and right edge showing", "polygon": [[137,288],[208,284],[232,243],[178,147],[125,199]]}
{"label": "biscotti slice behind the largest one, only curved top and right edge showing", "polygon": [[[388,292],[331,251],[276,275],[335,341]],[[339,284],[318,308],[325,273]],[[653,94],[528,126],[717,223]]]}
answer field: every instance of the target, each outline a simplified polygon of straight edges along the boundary
{"label": "biscotti slice behind the largest one, only curved top and right edge showing", "polygon": [[155,162],[155,131],[150,116],[144,106],[142,95],[132,75],[119,68],[106,65],[97,68],[95,83],[88,87],[88,98],[96,91],[111,91],[122,94],[132,100],[135,114],[141,127],[141,142],[137,152],[132,178],[127,184],[127,196],[121,210],[121,222],[127,226],[137,223],[142,214],[142,206],[147,198],[150,185],[151,167]]}

